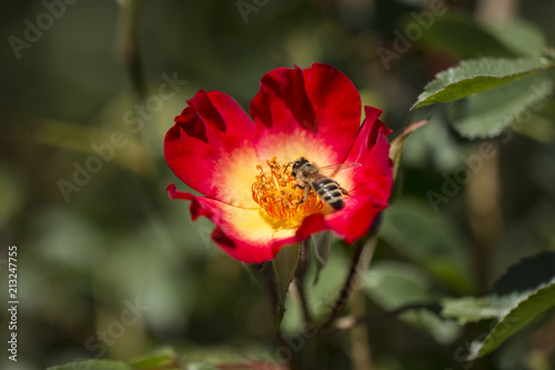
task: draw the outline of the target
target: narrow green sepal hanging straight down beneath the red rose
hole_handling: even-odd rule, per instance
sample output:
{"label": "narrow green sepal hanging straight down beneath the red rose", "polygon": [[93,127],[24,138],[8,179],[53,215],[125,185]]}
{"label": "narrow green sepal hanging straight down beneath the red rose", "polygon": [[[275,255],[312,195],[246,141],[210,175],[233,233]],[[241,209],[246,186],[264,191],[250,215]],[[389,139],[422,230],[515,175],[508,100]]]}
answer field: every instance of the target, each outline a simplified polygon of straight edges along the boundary
{"label": "narrow green sepal hanging straight down beneath the red rose", "polygon": [[280,327],[283,313],[285,312],[285,297],[287,296],[289,284],[295,276],[299,259],[301,258],[301,244],[292,244],[280,249],[272,260],[278,284],[278,297],[280,298],[278,307],[278,327]]}

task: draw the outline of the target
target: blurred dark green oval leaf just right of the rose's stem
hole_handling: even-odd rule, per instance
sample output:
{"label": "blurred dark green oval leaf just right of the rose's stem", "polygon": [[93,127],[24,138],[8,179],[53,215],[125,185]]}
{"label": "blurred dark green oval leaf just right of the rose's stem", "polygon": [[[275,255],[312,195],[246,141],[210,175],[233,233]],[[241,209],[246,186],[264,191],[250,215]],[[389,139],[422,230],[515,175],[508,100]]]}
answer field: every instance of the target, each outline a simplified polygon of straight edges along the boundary
{"label": "blurred dark green oval leaf just right of the rose's stem", "polygon": [[425,202],[400,199],[384,212],[381,237],[458,293],[472,287],[467,248],[455,227]]}

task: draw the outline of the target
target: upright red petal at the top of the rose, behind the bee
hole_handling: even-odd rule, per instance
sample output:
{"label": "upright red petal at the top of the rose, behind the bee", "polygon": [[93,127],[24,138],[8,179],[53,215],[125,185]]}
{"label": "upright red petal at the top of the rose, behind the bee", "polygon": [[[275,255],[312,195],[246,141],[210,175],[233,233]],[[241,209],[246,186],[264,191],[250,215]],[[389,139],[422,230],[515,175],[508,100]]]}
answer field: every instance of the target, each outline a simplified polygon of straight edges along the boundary
{"label": "upright red petal at the top of the rose, behind the bee", "polygon": [[[302,136],[309,144],[333,148],[333,162],[321,163],[333,164],[344,160],[356,137],[361,98],[345,74],[314,63],[302,71],[279,68],[266,73],[250,110],[259,134]],[[258,144],[261,158],[271,156],[265,148],[266,142]]]}

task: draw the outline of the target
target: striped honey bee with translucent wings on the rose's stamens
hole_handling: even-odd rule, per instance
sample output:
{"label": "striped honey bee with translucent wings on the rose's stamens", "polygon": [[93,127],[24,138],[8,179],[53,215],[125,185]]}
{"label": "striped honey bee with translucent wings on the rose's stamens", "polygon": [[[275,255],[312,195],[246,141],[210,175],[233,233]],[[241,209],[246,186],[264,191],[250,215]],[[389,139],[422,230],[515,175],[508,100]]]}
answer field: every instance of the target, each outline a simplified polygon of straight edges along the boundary
{"label": "striped honey bee with translucent wings on the rose's stamens", "polygon": [[301,188],[305,191],[304,198],[299,204],[302,204],[306,200],[312,190],[324,204],[336,211],[342,209],[345,204],[343,202],[343,196],[349,196],[349,192],[343,189],[337,181],[324,174],[324,172],[335,174],[340,170],[353,169],[362,166],[361,163],[345,162],[320,168],[316,163],[310,162],[306,158],[301,157],[294,162],[289,162],[283,172],[285,172],[291,164],[293,164],[291,174],[297,182],[293,188]]}

